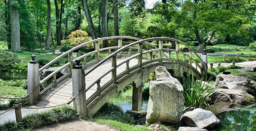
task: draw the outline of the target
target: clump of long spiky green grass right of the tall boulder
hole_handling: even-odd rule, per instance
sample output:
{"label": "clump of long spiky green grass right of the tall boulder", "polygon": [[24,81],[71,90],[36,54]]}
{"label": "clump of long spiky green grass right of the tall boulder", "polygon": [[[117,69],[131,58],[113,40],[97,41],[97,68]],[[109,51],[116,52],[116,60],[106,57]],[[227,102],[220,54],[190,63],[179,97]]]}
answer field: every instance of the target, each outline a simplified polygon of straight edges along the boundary
{"label": "clump of long spiky green grass right of the tall boulder", "polygon": [[210,96],[215,93],[215,89],[209,85],[205,85],[203,79],[196,80],[193,75],[188,74],[182,77],[183,95],[185,97],[185,105],[192,107],[209,106],[207,103]]}

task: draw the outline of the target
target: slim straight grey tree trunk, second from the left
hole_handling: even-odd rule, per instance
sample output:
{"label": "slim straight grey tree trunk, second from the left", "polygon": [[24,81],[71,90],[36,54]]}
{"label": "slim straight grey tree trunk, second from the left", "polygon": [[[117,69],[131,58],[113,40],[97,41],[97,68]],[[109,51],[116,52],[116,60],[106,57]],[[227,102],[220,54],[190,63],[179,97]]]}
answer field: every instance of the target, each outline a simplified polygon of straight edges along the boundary
{"label": "slim straight grey tree trunk, second from the left", "polygon": [[46,3],[47,3],[47,35],[46,35],[45,48],[48,50],[50,48],[50,42],[51,42],[52,19],[51,19],[50,0],[46,0]]}

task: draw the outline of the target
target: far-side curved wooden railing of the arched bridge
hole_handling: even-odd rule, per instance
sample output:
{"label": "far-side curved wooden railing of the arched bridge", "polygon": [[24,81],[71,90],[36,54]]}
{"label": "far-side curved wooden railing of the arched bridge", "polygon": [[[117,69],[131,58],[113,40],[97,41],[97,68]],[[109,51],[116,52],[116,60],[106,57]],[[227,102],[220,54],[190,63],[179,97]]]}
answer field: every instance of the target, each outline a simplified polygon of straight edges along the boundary
{"label": "far-side curved wooden railing of the arched bridge", "polygon": [[[110,39],[118,39],[118,46],[113,46],[113,47],[108,47],[108,48],[100,48],[100,41],[101,40],[110,40]],[[63,54],[59,55],[58,57],[56,57],[55,59],[53,59],[52,61],[50,61],[49,63],[47,63],[46,65],[44,65],[42,68],[39,69],[39,74],[41,74],[41,72],[46,69],[47,67],[49,67],[50,65],[52,65],[53,63],[55,63],[57,60],[60,60],[61,58],[68,56],[68,62],[62,66],[60,66],[58,69],[56,69],[55,71],[53,71],[51,74],[49,74],[47,77],[45,77],[43,80],[41,80],[39,82],[38,85],[33,85],[32,90],[34,88],[40,88],[41,85],[43,85],[44,83],[47,82],[47,80],[50,80],[53,78],[52,83],[49,84],[46,88],[44,88],[43,91],[40,92],[39,94],[39,98],[43,97],[45,94],[47,94],[47,92],[49,92],[52,88],[54,88],[56,85],[58,85],[59,83],[61,83],[62,81],[66,80],[68,77],[72,76],[72,68],[73,68],[73,62],[76,59],[81,59],[83,60],[83,68],[87,68],[91,65],[94,65],[96,63],[98,63],[100,60],[102,60],[102,58],[99,57],[99,54],[101,51],[106,51],[108,50],[108,55],[111,54],[111,49],[119,49],[122,48],[122,39],[131,39],[131,40],[141,40],[139,38],[136,37],[129,37],[129,36],[114,36],[114,37],[104,37],[104,38],[99,38],[99,39],[95,39],[95,40],[91,40],[88,41],[86,43],[83,43],[79,46],[76,46],[74,48],[71,48],[69,51],[64,52]],[[91,51],[89,53],[86,53],[80,57],[77,57],[76,59],[73,59],[73,51],[86,46],[88,44],[91,43],[95,43],[95,51]],[[146,44],[148,44],[149,46],[151,46],[152,48],[157,48],[156,46],[152,45],[151,43],[146,42]],[[131,56],[131,48],[137,48],[137,47],[130,47],[128,49],[128,56]],[[91,54],[95,54],[95,60],[86,63],[86,58],[87,56],[90,56]],[[122,55],[122,52],[119,53],[120,57],[127,57],[127,55]],[[64,76],[56,79],[57,73],[60,72],[61,70],[63,70],[64,68],[68,68],[68,73],[64,74]],[[39,75],[38,74],[38,75]],[[30,93],[30,92],[28,92]]]}

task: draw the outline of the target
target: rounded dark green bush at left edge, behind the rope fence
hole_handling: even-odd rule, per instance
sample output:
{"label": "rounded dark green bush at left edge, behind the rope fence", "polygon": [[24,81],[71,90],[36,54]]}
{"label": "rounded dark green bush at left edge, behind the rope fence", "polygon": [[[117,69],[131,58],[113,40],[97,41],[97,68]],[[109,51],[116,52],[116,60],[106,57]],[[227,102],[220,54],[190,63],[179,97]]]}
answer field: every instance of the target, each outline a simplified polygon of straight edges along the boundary
{"label": "rounded dark green bush at left edge, behind the rope fence", "polygon": [[13,69],[15,63],[20,63],[20,58],[10,51],[0,51],[0,72]]}

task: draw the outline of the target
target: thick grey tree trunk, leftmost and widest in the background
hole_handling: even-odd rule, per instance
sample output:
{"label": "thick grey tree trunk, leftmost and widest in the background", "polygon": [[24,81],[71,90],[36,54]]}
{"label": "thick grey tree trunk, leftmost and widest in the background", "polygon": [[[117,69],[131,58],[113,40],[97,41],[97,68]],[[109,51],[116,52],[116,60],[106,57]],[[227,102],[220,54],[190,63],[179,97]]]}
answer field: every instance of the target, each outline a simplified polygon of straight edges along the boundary
{"label": "thick grey tree trunk, leftmost and widest in the background", "polygon": [[10,9],[11,9],[11,20],[12,20],[12,45],[11,51],[16,52],[20,51],[20,20],[19,20],[19,12],[17,7],[15,7],[13,2],[17,2],[17,0],[10,0]]}

